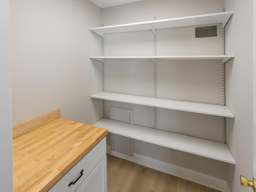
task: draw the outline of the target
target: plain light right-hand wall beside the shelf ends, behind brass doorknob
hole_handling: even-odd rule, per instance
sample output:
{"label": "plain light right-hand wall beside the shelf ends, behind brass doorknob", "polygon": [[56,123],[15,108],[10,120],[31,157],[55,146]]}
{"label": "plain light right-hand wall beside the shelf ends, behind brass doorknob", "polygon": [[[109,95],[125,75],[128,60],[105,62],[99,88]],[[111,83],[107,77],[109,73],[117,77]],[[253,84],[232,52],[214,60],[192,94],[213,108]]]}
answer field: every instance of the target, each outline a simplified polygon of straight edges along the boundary
{"label": "plain light right-hand wall beside the shelf ends, behind brass doorknob", "polygon": [[253,0],[225,0],[226,11],[234,10],[234,16],[226,26],[226,37],[228,37],[226,54],[235,55],[234,60],[226,63],[226,105],[235,115],[235,119],[227,118],[226,121],[227,144],[236,161],[236,166],[228,166],[227,181],[232,192],[252,190],[240,186],[241,174],[250,179],[253,177],[253,139],[255,140],[253,100],[255,98],[253,98],[252,2]]}

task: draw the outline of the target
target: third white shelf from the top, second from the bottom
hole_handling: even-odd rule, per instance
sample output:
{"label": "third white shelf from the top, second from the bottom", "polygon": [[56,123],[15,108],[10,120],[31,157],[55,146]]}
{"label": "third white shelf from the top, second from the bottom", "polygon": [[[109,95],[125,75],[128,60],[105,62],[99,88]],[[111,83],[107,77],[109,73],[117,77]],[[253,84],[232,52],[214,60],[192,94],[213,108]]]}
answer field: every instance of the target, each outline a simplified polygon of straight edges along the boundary
{"label": "third white shelf from the top, second from the bottom", "polygon": [[132,103],[138,105],[146,105],[152,107],[188,111],[216,116],[224,116],[234,118],[234,114],[226,107],[220,105],[194,103],[186,101],[168,100],[160,98],[151,98],[144,96],[126,95],[111,92],[100,92],[91,96],[91,98],[105,99],[110,101],[118,101]]}

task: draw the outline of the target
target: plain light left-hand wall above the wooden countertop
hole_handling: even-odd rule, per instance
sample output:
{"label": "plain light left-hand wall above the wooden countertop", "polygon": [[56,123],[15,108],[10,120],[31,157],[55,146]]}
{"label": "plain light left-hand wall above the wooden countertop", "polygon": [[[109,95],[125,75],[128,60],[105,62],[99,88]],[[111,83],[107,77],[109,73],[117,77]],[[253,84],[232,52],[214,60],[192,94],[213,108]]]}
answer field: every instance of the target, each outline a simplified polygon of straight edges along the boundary
{"label": "plain light left-hand wall above the wooden countertop", "polygon": [[10,0],[12,122],[56,108],[61,117],[92,124],[103,116],[101,9],[88,0]]}

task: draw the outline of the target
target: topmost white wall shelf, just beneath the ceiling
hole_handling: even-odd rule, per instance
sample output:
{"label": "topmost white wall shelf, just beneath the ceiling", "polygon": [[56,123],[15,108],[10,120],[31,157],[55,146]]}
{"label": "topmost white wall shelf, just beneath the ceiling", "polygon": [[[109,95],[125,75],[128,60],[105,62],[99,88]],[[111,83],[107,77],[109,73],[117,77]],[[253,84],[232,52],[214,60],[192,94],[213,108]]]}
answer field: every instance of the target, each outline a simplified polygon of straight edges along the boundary
{"label": "topmost white wall shelf, just beneath the ceiling", "polygon": [[204,25],[204,24],[216,24],[216,23],[223,23],[223,26],[225,26],[230,16],[232,16],[233,13],[234,13],[233,11],[220,12],[220,13],[195,15],[195,16],[188,16],[188,17],[147,21],[147,22],[96,27],[96,28],[89,28],[89,30],[96,32],[100,36],[104,36],[104,34],[110,34],[110,33],[132,32],[132,31],[143,31],[143,30],[154,31],[156,29]]}

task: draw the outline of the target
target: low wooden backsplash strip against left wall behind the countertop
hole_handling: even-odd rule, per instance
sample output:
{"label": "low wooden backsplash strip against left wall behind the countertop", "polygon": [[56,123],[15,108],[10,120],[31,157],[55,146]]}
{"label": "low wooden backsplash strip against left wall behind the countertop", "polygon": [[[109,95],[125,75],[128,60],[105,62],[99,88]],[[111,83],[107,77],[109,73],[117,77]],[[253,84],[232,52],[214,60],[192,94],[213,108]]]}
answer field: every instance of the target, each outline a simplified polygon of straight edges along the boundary
{"label": "low wooden backsplash strip against left wall behind the countertop", "polygon": [[15,125],[12,127],[12,139],[24,135],[27,132],[30,132],[58,118],[60,118],[60,109],[53,110],[26,122]]}

